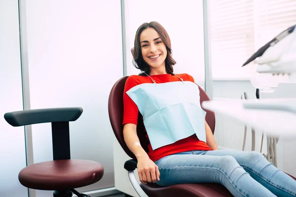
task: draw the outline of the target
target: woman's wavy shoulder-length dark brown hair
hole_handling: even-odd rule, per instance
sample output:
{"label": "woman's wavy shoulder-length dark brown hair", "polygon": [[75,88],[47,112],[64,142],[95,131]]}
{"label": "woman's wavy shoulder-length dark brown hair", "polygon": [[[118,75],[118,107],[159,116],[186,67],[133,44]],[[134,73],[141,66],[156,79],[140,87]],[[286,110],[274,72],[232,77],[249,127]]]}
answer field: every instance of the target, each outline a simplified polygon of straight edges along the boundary
{"label": "woman's wavy shoulder-length dark brown hair", "polygon": [[[176,61],[172,58],[171,39],[168,33],[166,32],[166,30],[159,23],[155,21],[152,21],[150,23],[144,23],[137,30],[137,33],[135,36],[135,47],[133,51],[134,66],[142,71],[145,71],[148,75],[150,74],[150,66],[144,61],[142,57],[142,51],[141,51],[141,45],[140,45],[140,35],[145,29],[149,27],[153,28],[159,34],[161,40],[165,44],[167,49],[167,57],[165,59],[165,71],[168,74],[173,74],[174,73],[173,66],[176,64]],[[145,75],[145,74],[143,73],[140,75]]]}

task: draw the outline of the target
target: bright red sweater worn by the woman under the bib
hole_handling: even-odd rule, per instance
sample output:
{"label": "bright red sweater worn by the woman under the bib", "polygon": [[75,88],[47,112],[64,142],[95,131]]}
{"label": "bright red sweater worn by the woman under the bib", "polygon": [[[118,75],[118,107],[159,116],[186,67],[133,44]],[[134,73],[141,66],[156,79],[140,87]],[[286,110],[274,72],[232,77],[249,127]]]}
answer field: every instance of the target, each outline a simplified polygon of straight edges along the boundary
{"label": "bright red sweater worn by the woman under the bib", "polygon": [[[188,74],[178,74],[179,77],[183,78],[184,81],[192,81],[194,79],[192,76]],[[151,75],[151,78],[155,80],[156,83],[167,83],[173,81],[180,81],[177,76],[171,74],[158,74],[158,75]],[[138,76],[138,75],[131,75],[127,78],[124,93],[123,93],[123,125],[127,123],[132,123],[137,125],[138,122],[138,107],[136,103],[126,94],[126,92],[134,86],[137,86],[142,83],[153,83],[150,77],[148,76]],[[145,132],[146,138],[149,142],[149,138],[146,131]],[[195,134],[176,141],[173,144],[169,144],[160,148],[152,150],[151,144],[148,143],[148,156],[149,158],[155,162],[165,156],[181,153],[185,151],[192,151],[192,150],[212,150],[205,142],[200,141]]]}

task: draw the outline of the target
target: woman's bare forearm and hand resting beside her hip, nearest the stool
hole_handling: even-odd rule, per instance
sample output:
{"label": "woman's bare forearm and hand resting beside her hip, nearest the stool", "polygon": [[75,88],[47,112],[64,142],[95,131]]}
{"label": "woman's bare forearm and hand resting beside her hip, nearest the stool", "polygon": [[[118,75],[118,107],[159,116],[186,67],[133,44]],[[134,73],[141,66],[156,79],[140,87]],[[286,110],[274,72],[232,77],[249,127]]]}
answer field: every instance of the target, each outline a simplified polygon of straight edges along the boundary
{"label": "woman's bare forearm and hand resting beside her hip, nearest the stool", "polygon": [[137,125],[131,123],[125,124],[123,126],[123,137],[127,147],[134,153],[138,160],[137,169],[141,183],[155,183],[156,179],[159,181],[160,173],[158,166],[150,160],[148,154],[142,148],[137,135]]}

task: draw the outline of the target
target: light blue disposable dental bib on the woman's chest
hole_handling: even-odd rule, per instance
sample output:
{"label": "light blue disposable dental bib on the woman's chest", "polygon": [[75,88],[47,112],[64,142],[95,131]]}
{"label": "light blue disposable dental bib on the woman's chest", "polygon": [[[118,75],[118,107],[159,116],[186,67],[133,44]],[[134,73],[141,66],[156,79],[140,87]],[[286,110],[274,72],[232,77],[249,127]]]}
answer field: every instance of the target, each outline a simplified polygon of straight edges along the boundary
{"label": "light blue disposable dental bib on the woman's chest", "polygon": [[152,149],[196,134],[206,142],[198,86],[191,81],[144,83],[126,92],[143,116]]}

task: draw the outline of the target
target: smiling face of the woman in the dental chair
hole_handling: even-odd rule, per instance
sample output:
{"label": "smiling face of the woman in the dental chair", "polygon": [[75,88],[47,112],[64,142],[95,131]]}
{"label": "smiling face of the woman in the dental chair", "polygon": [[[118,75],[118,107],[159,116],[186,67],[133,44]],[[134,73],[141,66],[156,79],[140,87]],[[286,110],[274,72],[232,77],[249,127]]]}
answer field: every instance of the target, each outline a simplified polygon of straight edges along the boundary
{"label": "smiling face of the woman in the dental chair", "polygon": [[167,49],[153,28],[145,29],[140,35],[140,45],[144,61],[151,69],[165,67]]}

